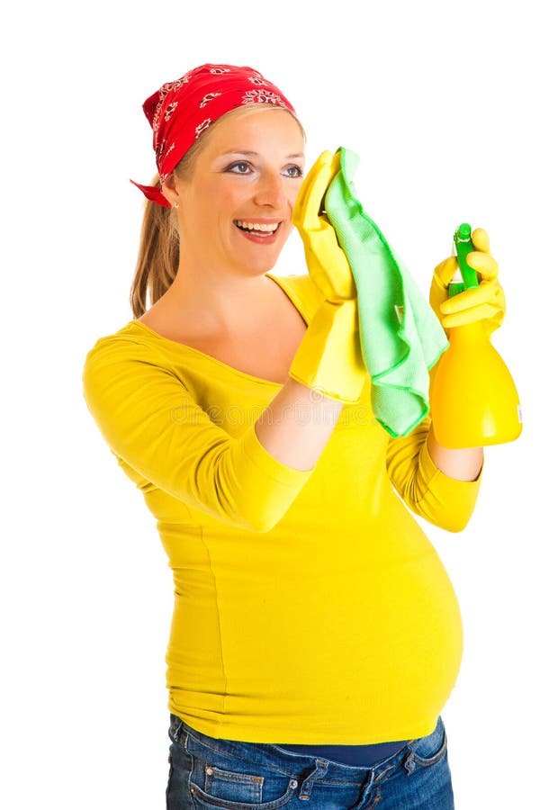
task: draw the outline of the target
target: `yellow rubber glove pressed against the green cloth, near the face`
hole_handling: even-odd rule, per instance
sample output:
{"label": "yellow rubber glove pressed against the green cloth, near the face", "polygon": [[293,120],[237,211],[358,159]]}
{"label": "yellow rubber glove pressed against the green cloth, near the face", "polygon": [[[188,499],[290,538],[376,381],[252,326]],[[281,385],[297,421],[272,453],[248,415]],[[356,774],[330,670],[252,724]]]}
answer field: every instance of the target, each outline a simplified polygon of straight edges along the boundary
{"label": "yellow rubber glove pressed against the green cloth, near the face", "polygon": [[356,286],[335,230],[320,206],[339,170],[339,156],[322,152],[305,177],[293,208],[311,280],[324,296],[293,357],[290,376],[334,400],[355,403],[365,385]]}

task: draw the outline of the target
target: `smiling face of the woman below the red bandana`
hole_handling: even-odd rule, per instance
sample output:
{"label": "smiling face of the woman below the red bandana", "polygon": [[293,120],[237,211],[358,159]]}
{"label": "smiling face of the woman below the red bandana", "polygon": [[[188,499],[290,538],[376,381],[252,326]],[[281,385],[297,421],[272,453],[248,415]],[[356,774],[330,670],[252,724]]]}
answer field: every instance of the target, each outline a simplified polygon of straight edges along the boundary
{"label": "smiling face of the woman below the red bandana", "polygon": [[221,119],[190,178],[174,175],[184,262],[238,275],[275,266],[303,166],[302,130],[286,110],[242,108]]}

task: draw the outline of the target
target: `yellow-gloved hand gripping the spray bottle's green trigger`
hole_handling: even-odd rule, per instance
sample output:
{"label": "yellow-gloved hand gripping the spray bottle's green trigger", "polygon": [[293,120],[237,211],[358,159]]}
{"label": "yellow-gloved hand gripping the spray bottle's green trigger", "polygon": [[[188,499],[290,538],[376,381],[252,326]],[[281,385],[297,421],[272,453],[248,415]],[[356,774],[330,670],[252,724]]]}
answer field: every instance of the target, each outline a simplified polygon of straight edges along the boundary
{"label": "yellow-gloved hand gripping the spray bottle's green trigger", "polygon": [[448,298],[448,284],[458,272],[457,258],[449,257],[435,267],[429,302],[443,329],[482,320],[491,334],[505,316],[505,294],[498,281],[498,263],[490,253],[488,234],[477,228],[471,238],[475,249],[467,256],[467,264],[481,275],[479,286]]}

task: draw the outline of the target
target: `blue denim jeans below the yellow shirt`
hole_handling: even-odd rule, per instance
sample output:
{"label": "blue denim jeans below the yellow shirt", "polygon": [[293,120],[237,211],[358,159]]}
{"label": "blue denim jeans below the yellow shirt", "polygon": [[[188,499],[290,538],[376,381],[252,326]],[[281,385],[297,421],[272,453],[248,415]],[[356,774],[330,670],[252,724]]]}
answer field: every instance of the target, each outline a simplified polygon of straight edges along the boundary
{"label": "blue denim jeans below the yellow shirt", "polygon": [[446,732],[410,740],[369,768],[216,740],[171,717],[167,810],[453,810]]}

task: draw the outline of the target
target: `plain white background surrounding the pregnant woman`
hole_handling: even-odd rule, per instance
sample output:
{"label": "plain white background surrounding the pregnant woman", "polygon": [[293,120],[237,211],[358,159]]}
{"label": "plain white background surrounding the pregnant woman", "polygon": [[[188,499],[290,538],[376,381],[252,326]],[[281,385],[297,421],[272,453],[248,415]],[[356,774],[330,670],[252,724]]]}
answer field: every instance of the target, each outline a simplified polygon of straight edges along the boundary
{"label": "plain white background surrounding the pregnant woman", "polygon": [[[131,318],[142,198],[129,178],[155,170],[141,103],[203,62],[279,85],[309,165],[339,145],[360,155],[365,208],[426,293],[458,222],[491,235],[508,297],[494,345],[525,423],[487,451],[464,533],[427,529],[464,616],[445,719],[458,808],[547,806],[542,5],[23,0],[5,13],[1,806],[164,806],[171,579],[81,372]],[[303,270],[293,238],[278,272]]]}

